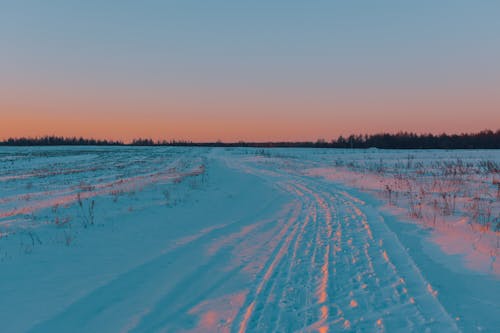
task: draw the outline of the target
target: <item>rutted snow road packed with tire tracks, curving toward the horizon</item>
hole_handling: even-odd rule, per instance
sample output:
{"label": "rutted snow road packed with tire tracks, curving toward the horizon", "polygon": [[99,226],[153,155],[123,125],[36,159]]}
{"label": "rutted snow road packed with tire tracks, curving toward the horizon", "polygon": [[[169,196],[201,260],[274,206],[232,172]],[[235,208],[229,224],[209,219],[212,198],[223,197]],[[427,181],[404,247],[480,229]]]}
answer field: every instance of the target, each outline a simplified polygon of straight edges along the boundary
{"label": "rutted snow road packed with tire tracks, curving toward the horizon", "polygon": [[276,246],[233,330],[457,330],[384,218],[363,200],[296,173],[241,169],[280,184],[293,206],[271,236]]}

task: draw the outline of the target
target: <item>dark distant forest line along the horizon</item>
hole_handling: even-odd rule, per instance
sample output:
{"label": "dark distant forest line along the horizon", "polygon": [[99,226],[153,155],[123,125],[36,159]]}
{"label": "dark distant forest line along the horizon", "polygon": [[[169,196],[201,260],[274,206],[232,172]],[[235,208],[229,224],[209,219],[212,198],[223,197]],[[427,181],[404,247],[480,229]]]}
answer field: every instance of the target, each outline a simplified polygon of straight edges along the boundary
{"label": "dark distant forest line along the horizon", "polygon": [[381,148],[381,149],[500,149],[500,130],[484,130],[462,134],[415,134],[399,132],[373,135],[339,136],[336,140],[316,142],[191,142],[153,141],[135,139],[122,141],[95,140],[45,136],[36,138],[10,138],[0,141],[0,146],[196,146],[196,147],[289,147],[289,148]]}

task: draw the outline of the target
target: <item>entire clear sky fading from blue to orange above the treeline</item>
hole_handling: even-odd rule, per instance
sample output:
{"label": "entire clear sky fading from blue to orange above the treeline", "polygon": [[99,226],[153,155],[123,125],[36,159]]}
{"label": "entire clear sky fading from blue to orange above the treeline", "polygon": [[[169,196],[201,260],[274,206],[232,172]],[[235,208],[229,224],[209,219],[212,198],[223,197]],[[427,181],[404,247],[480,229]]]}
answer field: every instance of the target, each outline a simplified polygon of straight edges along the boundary
{"label": "entire clear sky fading from blue to orange above the treeline", "polygon": [[500,128],[500,1],[2,1],[0,139]]}

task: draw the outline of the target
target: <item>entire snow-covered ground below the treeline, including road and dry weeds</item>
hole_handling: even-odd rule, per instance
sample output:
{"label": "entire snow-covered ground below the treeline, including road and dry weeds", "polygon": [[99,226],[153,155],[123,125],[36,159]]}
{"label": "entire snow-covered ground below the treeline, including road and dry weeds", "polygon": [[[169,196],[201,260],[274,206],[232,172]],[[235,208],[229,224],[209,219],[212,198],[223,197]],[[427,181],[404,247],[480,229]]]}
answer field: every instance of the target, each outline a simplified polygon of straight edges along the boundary
{"label": "entire snow-covered ground below the treeline, including road and dry weeds", "polygon": [[0,148],[0,331],[498,332],[499,165]]}

